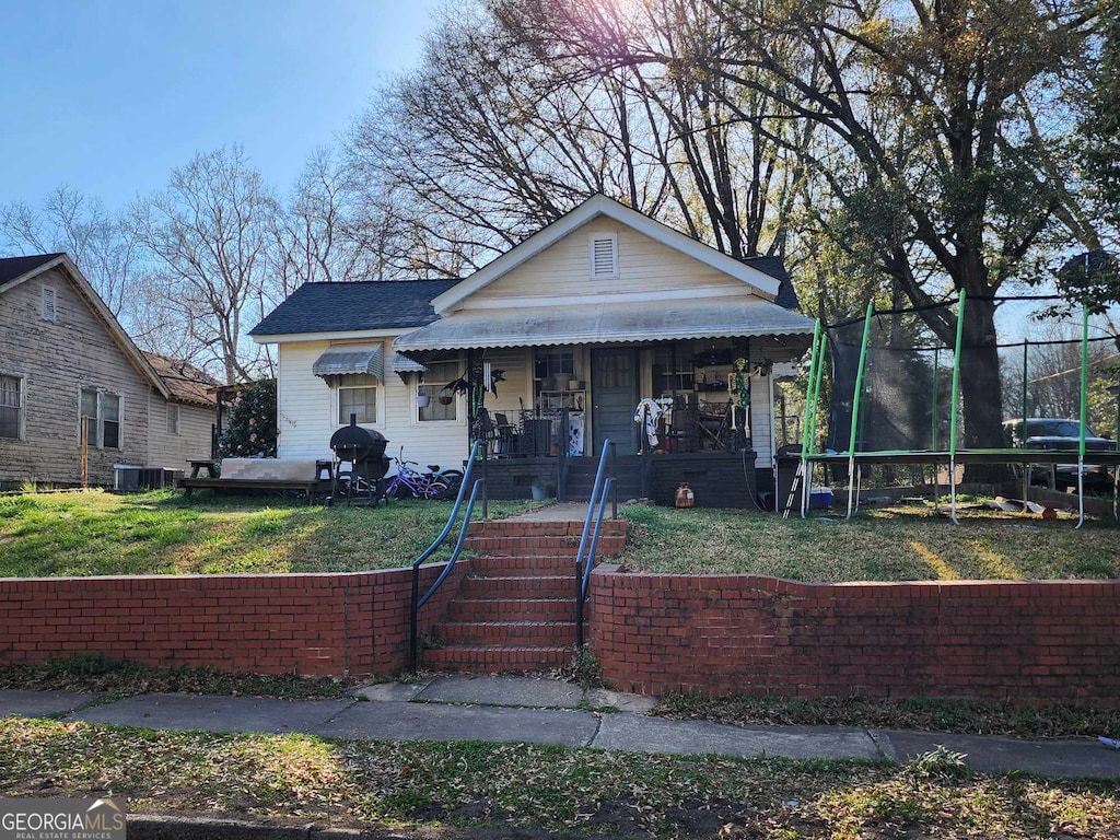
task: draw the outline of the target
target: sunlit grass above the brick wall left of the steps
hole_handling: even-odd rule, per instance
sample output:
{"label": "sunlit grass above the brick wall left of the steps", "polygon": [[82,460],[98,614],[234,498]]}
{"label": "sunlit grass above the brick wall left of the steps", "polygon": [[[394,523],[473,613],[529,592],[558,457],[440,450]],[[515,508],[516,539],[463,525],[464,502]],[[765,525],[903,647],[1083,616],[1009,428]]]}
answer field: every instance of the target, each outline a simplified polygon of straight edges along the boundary
{"label": "sunlit grass above the brick wall left of the steps", "polygon": [[[491,504],[492,516],[529,503]],[[0,496],[0,577],[361,571],[410,566],[449,502],[318,507],[166,491]],[[437,556],[438,558],[439,556]]]}

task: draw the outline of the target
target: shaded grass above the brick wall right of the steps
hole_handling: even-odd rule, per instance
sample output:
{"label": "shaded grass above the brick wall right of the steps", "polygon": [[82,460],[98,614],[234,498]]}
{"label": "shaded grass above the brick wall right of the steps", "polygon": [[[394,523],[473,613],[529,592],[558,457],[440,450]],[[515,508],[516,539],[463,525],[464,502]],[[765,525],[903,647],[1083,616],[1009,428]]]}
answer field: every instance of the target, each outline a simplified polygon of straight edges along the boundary
{"label": "shaded grass above the brick wall right of the steps", "polygon": [[962,511],[960,525],[926,505],[783,520],[773,514],[631,506],[626,569],[745,573],[791,580],[1055,580],[1120,577],[1120,525]]}

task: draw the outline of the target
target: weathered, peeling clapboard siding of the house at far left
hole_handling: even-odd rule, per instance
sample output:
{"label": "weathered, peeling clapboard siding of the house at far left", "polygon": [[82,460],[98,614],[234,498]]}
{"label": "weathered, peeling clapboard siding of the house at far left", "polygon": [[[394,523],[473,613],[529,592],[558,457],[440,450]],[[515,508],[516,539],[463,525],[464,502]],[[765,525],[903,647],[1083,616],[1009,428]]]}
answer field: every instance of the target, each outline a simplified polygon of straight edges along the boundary
{"label": "weathered, peeling clapboard siding of the house at far left", "polygon": [[[41,318],[41,290],[55,290],[57,317]],[[26,376],[25,438],[0,439],[0,482],[81,480],[82,388],[122,399],[121,448],[90,448],[91,484],[113,482],[113,464],[143,465],[149,383],[69,280],[46,271],[0,296],[0,372]]]}

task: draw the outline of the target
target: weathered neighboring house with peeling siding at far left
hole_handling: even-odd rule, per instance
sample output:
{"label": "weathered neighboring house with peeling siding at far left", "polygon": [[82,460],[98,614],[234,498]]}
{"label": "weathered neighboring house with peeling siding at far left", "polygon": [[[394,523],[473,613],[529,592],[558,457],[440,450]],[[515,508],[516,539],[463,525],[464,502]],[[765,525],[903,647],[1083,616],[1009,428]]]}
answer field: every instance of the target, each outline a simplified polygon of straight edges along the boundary
{"label": "weathered neighboring house with peeling siding at far left", "polygon": [[146,356],[66,254],[0,259],[0,486],[207,458],[213,384]]}

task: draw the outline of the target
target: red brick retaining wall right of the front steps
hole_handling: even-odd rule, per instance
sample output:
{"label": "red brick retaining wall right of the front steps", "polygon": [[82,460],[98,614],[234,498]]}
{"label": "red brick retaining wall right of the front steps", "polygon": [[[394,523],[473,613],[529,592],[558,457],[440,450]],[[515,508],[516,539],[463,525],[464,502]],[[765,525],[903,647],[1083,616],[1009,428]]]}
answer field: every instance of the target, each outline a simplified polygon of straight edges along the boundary
{"label": "red brick retaining wall right of the front steps", "polygon": [[1120,581],[822,585],[604,566],[587,627],[624,691],[1120,704]]}

